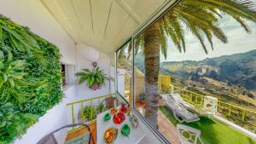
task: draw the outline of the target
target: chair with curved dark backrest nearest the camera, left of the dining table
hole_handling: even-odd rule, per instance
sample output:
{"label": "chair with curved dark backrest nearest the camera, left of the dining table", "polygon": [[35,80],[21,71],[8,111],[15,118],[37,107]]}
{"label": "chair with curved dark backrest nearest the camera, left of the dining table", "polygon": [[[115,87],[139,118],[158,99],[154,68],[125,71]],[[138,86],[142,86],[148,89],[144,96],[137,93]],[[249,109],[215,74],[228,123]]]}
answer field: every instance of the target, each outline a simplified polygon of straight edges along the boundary
{"label": "chair with curved dark backrest nearest the camera, left of the dining table", "polygon": [[[53,132],[49,133],[48,135],[44,136],[44,138],[42,138],[40,141],[38,141],[38,144],[58,144],[57,141],[55,140],[55,133],[58,132],[59,130],[63,130],[65,128],[72,128],[72,127],[75,127],[75,126],[78,126],[78,125],[82,125],[84,126],[85,128],[87,128],[88,130],[88,133],[85,133],[85,135],[80,135],[80,140],[70,140],[70,141],[66,141],[66,143],[68,144],[72,144],[72,143],[76,143],[76,144],[90,144],[91,142],[93,144],[95,144],[95,141],[94,141],[94,138],[93,138],[93,135],[91,135],[91,132],[90,132],[90,127],[87,125],[87,124],[83,124],[83,123],[79,123],[79,124],[69,124],[69,125],[65,125],[65,126],[62,126],[61,128],[57,129],[57,130],[54,130]],[[88,140],[89,141],[85,141],[85,139],[83,139],[85,136],[88,136]],[[79,136],[78,136],[79,137]],[[75,139],[75,138],[74,138]],[[80,142],[78,142],[80,141]]]}

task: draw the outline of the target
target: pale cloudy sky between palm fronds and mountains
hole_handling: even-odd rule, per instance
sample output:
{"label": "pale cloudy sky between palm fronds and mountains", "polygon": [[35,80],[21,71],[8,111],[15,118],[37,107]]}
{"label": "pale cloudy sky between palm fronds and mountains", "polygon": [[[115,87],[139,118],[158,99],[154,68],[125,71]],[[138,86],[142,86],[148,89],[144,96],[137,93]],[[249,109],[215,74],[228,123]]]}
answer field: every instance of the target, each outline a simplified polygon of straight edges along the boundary
{"label": "pale cloudy sky between palm fronds and mountains", "polygon": [[218,57],[221,55],[232,55],[237,53],[244,53],[256,49],[256,24],[248,22],[252,33],[247,34],[244,28],[233,20],[231,17],[224,17],[219,20],[219,26],[222,28],[228,37],[228,43],[222,43],[217,38],[213,38],[213,51],[211,45],[207,43],[208,55],[201,47],[199,40],[195,38],[190,32],[185,33],[186,53],[179,53],[177,48],[173,45],[172,40],[168,39],[167,59],[160,56],[160,61],[182,61],[182,60],[203,60],[206,58]]}

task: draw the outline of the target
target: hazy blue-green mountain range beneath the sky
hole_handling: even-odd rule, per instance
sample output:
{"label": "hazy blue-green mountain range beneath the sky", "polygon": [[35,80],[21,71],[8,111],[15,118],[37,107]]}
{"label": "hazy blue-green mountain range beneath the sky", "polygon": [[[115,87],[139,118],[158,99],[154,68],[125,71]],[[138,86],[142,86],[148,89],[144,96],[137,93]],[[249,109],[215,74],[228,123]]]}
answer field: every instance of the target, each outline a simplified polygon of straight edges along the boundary
{"label": "hazy blue-green mountain range beneath the sky", "polygon": [[253,90],[256,89],[256,49],[199,61],[165,61],[160,64],[160,72],[202,84],[214,81]]}

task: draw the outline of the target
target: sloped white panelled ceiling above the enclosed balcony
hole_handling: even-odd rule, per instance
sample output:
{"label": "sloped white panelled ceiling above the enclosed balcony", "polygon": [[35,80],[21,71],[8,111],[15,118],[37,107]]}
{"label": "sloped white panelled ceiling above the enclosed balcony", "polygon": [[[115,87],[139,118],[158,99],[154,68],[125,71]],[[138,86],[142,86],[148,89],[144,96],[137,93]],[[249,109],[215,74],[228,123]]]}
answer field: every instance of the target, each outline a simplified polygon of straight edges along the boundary
{"label": "sloped white panelled ceiling above the enclosed balcony", "polygon": [[167,0],[41,0],[76,43],[110,54]]}

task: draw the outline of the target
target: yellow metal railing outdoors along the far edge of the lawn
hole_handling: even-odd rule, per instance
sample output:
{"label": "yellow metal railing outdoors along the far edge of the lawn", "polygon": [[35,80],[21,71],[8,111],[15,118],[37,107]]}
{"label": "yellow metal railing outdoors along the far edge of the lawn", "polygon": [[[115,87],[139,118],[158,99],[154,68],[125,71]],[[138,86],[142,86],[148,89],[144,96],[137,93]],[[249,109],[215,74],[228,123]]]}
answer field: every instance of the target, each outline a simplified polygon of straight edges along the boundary
{"label": "yellow metal railing outdoors along the far edge of the lawn", "polygon": [[[189,102],[195,107],[202,108],[204,106],[204,95],[197,94],[187,89],[178,88],[172,84],[171,92],[178,93],[182,96],[184,101]],[[218,115],[227,118],[236,124],[250,124],[253,126],[253,130],[256,130],[256,112],[246,108],[238,107],[230,103],[218,100]]]}

